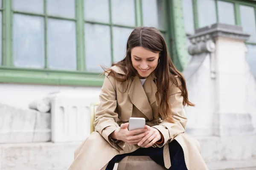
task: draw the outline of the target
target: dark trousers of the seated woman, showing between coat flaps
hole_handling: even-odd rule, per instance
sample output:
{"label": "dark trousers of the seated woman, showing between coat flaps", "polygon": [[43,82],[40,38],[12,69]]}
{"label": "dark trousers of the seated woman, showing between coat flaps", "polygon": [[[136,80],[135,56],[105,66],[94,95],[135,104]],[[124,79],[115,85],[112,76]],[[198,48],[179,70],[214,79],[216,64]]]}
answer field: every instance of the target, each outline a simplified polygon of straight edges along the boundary
{"label": "dark trousers of the seated woman, showing between coat flaps", "polygon": [[[169,170],[187,170],[182,147],[176,140],[169,143],[169,153],[172,163]],[[132,153],[116,155],[109,161],[106,170],[113,170],[115,162],[121,161],[125,156],[149,156],[157,164],[164,166],[163,147],[148,147],[139,148]]]}

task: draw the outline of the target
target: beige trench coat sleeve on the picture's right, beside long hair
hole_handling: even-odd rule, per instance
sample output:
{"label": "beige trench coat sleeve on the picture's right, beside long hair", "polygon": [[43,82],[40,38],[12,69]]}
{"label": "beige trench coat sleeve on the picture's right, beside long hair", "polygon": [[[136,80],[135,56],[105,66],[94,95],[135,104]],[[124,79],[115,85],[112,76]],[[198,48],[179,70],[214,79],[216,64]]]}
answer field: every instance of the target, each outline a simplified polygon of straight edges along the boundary
{"label": "beige trench coat sleeve on the picture's right, beside long hair", "polygon": [[[180,85],[180,79],[178,79],[178,85]],[[183,109],[183,96],[178,87],[172,86],[171,95],[169,96],[169,102],[172,108],[172,118],[174,123],[163,120],[160,125],[153,126],[159,130],[164,138],[163,144],[155,144],[157,147],[162,147],[167,142],[171,142],[179,133],[185,132],[186,127],[186,113]]]}

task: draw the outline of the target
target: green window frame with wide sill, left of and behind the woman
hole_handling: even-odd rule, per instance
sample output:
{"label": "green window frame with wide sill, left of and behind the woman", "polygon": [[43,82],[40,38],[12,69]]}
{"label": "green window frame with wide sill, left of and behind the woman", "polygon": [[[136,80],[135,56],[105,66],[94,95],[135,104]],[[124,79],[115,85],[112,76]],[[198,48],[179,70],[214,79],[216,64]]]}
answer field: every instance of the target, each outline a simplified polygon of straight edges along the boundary
{"label": "green window frame with wide sill, left of and behind the woman", "polygon": [[[3,0],[3,36],[2,36],[2,65],[0,65],[0,82],[6,83],[28,83],[28,84],[48,84],[48,85],[81,85],[81,86],[101,86],[104,76],[99,76],[99,72],[88,72],[85,68],[85,48],[84,48],[84,25],[85,23],[110,26],[111,32],[111,61],[113,62],[113,27],[136,28],[143,26],[142,0],[134,0],[136,26],[117,25],[112,23],[111,0],[109,2],[110,23],[100,23],[84,20],[84,0],[75,0],[75,18],[56,17],[47,14],[47,0],[44,0],[44,14],[35,14],[32,12],[14,11],[12,0]],[[167,3],[166,0],[164,1]],[[166,23],[168,23],[168,7],[165,5]],[[26,14],[31,16],[44,17],[44,43],[45,43],[45,68],[18,68],[13,66],[12,49],[12,25],[14,14]],[[72,20],[76,22],[76,71],[54,70],[48,68],[47,58],[47,19],[54,18],[58,20]],[[166,24],[168,25],[168,24]],[[169,44],[169,26],[166,30],[160,30],[165,34],[166,41]],[[85,56],[85,57],[84,57]]]}

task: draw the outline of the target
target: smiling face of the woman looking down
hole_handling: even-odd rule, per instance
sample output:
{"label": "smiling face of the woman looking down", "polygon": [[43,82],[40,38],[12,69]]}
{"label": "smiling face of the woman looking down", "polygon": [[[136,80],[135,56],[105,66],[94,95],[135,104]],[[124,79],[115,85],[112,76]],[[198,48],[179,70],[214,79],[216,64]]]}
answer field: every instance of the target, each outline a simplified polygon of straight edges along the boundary
{"label": "smiling face of the woman looking down", "polygon": [[147,78],[157,68],[158,59],[159,52],[154,53],[143,47],[131,49],[131,62],[141,79]]}

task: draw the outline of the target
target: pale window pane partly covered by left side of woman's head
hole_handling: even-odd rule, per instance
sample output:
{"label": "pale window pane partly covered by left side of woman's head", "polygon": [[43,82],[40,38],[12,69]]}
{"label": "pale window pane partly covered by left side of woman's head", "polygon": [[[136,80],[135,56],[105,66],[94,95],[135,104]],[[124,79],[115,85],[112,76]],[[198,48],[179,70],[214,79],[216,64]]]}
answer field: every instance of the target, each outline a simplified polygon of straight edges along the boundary
{"label": "pale window pane partly covered by left side of woman's head", "polygon": [[125,58],[126,43],[129,35],[131,34],[131,28],[119,28],[113,27],[113,57],[114,62],[118,62]]}

